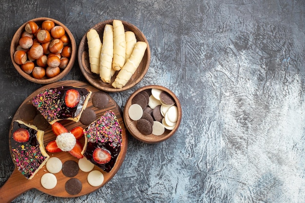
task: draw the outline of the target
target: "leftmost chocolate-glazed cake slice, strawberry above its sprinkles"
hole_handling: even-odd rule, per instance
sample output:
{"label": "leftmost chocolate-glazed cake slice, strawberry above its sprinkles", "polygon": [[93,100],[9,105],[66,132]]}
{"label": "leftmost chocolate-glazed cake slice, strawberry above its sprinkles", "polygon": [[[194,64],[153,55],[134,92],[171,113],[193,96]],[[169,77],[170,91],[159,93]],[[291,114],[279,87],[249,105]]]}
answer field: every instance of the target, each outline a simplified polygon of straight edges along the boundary
{"label": "leftmost chocolate-glazed cake slice, strawberry above its sprinkles", "polygon": [[20,120],[13,122],[11,131],[13,161],[20,173],[30,180],[50,158],[43,145],[44,131]]}

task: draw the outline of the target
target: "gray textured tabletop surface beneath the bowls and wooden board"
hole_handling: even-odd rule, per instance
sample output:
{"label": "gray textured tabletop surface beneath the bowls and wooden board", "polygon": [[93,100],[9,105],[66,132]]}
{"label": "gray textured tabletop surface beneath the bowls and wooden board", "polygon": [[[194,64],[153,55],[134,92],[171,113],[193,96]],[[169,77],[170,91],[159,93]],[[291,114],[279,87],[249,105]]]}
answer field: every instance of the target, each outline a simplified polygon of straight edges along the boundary
{"label": "gray textured tabletop surface beneath the bowls and wooden board", "polygon": [[[76,43],[99,21],[123,19],[147,37],[151,66],[137,88],[176,93],[183,119],[169,140],[130,137],[104,187],[75,199],[37,190],[14,203],[304,203],[305,2],[302,0],[2,0],[0,185],[13,171],[11,118],[40,87],[17,75],[10,41],[25,21],[56,18]],[[85,80],[76,61],[64,79]]]}

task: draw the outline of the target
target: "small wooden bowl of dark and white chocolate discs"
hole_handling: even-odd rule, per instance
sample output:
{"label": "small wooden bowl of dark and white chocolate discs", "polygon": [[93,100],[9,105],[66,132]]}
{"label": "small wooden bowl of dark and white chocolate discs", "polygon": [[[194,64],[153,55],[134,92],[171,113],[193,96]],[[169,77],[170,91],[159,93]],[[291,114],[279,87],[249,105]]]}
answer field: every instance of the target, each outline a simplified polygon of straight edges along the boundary
{"label": "small wooden bowl of dark and white chocolate discs", "polygon": [[171,90],[149,85],[131,94],[123,114],[125,126],[134,138],[159,143],[172,137],[179,128],[182,109]]}

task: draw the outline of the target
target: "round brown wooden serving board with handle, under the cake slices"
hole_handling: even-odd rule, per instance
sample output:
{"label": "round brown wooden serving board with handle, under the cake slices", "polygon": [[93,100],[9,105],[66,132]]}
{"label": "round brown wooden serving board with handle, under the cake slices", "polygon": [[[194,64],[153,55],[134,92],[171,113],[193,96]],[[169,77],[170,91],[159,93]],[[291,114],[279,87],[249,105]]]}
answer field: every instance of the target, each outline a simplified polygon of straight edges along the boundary
{"label": "round brown wooden serving board with handle, under the cake slices", "polygon": [[[107,173],[107,172],[104,172],[102,169],[98,168],[97,166],[94,167],[93,170],[99,170],[104,175],[103,184],[100,186],[97,186],[97,187],[89,185],[89,183],[87,181],[87,175],[89,174],[89,172],[83,172],[79,169],[78,174],[73,178],[77,178],[78,180],[81,181],[82,190],[77,195],[70,195],[65,190],[65,183],[70,178],[63,175],[63,173],[61,171],[55,174],[55,176],[57,177],[57,185],[55,186],[55,188],[45,189],[40,183],[41,176],[48,172],[45,166],[43,166],[43,168],[41,168],[38,171],[38,173],[31,180],[27,180],[23,175],[21,175],[21,173],[15,167],[11,176],[8,178],[6,183],[0,188],[0,203],[11,202],[16,197],[18,197],[20,194],[24,193],[27,190],[33,189],[33,188],[36,188],[41,192],[47,193],[52,196],[57,196],[57,197],[70,198],[70,197],[82,196],[82,195],[91,193],[91,192],[97,190],[98,188],[102,187],[103,185],[105,185],[108,181],[110,181],[114,177],[114,175],[116,174],[116,172],[122,165],[124,158],[125,158],[126,151],[127,151],[127,145],[128,145],[128,137],[126,135],[126,129],[125,129],[124,122],[123,122],[122,111],[111,96],[109,96],[109,103],[105,109],[95,108],[92,105],[92,97],[95,92],[100,92],[100,90],[96,89],[95,87],[91,86],[88,83],[81,82],[81,81],[74,81],[74,80],[59,81],[59,82],[49,84],[49,85],[39,88],[37,91],[35,91],[31,95],[29,95],[26,98],[26,100],[20,105],[19,109],[17,110],[17,112],[15,113],[15,115],[13,117],[11,126],[13,125],[13,122],[15,120],[18,120],[18,119],[22,120],[19,116],[19,111],[23,105],[31,103],[32,98],[34,96],[36,96],[39,92],[44,91],[45,89],[48,89],[48,88],[56,88],[59,86],[81,87],[81,88],[86,88],[87,90],[92,91],[92,95],[91,95],[91,98],[89,99],[87,108],[91,108],[95,111],[96,119],[99,118],[100,116],[102,116],[104,114],[104,112],[108,111],[108,110],[112,110],[115,113],[115,115],[119,121],[119,124],[122,127],[122,145],[121,145],[120,154],[116,160],[114,168],[109,173]],[[59,121],[59,122],[66,129],[68,129],[68,131],[70,131],[71,129],[73,129],[76,126],[80,126],[82,128],[87,127],[87,126],[83,125],[81,122],[76,123],[71,120],[64,120],[64,121]],[[32,121],[25,122],[25,123],[32,124]],[[10,129],[10,133],[9,133],[9,144],[10,144],[10,136],[11,136],[11,129]],[[50,141],[55,140],[55,139],[56,139],[56,136],[52,132],[51,125],[50,125],[47,129],[44,130],[44,146],[46,146]],[[80,142],[82,144],[84,144],[84,138],[81,138]],[[11,144],[10,144],[10,150],[11,150]],[[50,155],[50,157],[58,157],[62,163],[64,163],[67,160],[74,160],[74,161],[78,162],[78,159],[73,157],[72,155],[70,155],[69,152],[56,152],[56,153],[48,152],[48,154]]]}

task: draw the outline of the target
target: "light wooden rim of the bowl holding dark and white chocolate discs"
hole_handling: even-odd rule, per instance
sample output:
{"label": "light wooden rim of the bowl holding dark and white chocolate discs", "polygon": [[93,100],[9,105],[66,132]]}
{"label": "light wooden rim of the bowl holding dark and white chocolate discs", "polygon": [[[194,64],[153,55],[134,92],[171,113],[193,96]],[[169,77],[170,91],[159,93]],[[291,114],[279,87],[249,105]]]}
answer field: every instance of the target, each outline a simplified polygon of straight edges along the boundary
{"label": "light wooden rim of the bowl holding dark and white chocolate discs", "polygon": [[[128,115],[128,109],[129,107],[131,106],[131,102],[132,102],[132,99],[133,97],[139,93],[139,92],[142,92],[144,90],[147,90],[147,89],[160,89],[160,90],[163,90],[163,91],[166,91],[168,92],[172,97],[173,99],[175,100],[176,102],[176,106],[177,106],[177,109],[178,109],[178,119],[177,119],[177,123],[176,123],[176,126],[174,129],[172,129],[168,134],[166,135],[160,135],[160,136],[156,136],[156,135],[143,135],[141,133],[135,133],[131,128],[130,128],[130,123],[128,121],[131,121],[131,119],[129,118],[129,115]],[[160,86],[160,85],[148,85],[148,86],[144,86],[144,87],[141,87],[139,89],[137,89],[135,92],[133,92],[130,97],[127,99],[126,101],[126,104],[125,104],[125,107],[124,107],[124,111],[123,111],[123,117],[124,117],[124,123],[125,123],[125,127],[126,129],[129,131],[129,133],[131,133],[133,135],[134,138],[136,138],[137,140],[140,140],[144,143],[149,143],[149,144],[154,144],[154,143],[159,143],[159,142],[163,142],[167,139],[169,139],[170,137],[172,137],[172,135],[177,131],[177,129],[179,128],[180,126],[180,123],[181,123],[181,119],[182,119],[182,108],[181,108],[181,104],[180,104],[180,101],[178,99],[178,97],[171,91],[169,90],[168,88],[166,87],[163,87],[163,86]]]}

